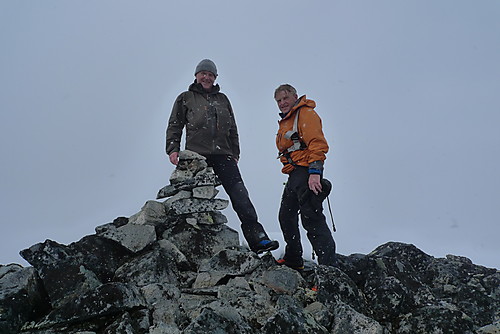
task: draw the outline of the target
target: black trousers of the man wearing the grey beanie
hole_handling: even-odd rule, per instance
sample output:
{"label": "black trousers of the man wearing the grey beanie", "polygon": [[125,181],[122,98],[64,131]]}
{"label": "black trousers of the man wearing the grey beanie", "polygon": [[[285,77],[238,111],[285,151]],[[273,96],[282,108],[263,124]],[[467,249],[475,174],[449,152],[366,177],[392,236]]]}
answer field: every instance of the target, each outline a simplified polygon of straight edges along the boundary
{"label": "black trousers of the man wearing the grey beanie", "polygon": [[214,169],[229,196],[233,210],[241,222],[243,236],[250,246],[269,239],[264,227],[259,223],[255,207],[250,201],[247,188],[241,178],[236,161],[228,155],[207,155],[208,166]]}

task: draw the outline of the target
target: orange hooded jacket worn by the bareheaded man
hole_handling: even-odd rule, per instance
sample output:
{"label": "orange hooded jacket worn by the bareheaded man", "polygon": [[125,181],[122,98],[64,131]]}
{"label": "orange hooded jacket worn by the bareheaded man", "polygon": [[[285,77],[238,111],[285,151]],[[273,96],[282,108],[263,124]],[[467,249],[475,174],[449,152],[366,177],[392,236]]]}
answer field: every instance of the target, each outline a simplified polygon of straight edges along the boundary
{"label": "orange hooded jacket worn by the bareheaded man", "polygon": [[[323,134],[321,118],[314,111],[315,107],[316,102],[307,99],[303,95],[299,98],[295,106],[278,122],[279,130],[276,135],[276,147],[280,152],[280,161],[284,164],[281,170],[284,174],[288,174],[295,169],[293,164],[310,167],[310,164],[320,162],[319,165],[322,169],[323,161],[325,161],[326,153],[328,152],[328,143]],[[293,130],[295,115],[299,110],[297,132],[299,133],[300,140],[306,145],[306,148],[290,153],[290,158],[293,161],[293,164],[291,164],[287,157],[281,153],[293,145],[293,141],[285,138],[285,134]]]}

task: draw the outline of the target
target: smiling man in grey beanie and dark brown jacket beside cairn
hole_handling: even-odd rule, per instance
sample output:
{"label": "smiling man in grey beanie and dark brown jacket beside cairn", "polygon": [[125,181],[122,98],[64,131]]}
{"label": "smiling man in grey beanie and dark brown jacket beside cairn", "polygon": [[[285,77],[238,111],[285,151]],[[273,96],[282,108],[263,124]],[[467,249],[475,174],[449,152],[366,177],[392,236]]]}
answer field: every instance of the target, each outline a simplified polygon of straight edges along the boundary
{"label": "smiling man in grey beanie and dark brown jacket beside cairn", "polygon": [[186,149],[203,155],[214,169],[241,221],[250,249],[256,253],[275,250],[278,241],[270,240],[259,223],[238,168],[238,129],[229,99],[218,84],[214,85],[217,67],[210,59],[203,59],[194,74],[194,83],[177,97],[170,114],[166,144],[170,162],[179,162],[182,132],[186,129]]}

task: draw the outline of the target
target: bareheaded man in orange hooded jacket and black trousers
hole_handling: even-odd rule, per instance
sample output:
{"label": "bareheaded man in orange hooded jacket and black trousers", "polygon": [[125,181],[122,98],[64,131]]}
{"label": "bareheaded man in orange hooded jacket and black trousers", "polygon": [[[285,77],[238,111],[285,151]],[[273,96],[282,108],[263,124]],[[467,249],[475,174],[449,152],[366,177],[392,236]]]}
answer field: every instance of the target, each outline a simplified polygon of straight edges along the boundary
{"label": "bareheaded man in orange hooded jacket and black trousers", "polygon": [[[305,95],[298,97],[294,87],[276,88],[274,99],[281,113],[276,146],[288,174],[279,211],[279,221],[286,248],[278,262],[294,269],[304,267],[299,231],[299,213],[307,237],[318,256],[318,263],[336,265],[335,241],[323,214],[323,200],[329,189],[323,180],[323,164],[328,143],[321,118],[314,111],[316,103]],[[330,185],[331,186],[331,185]]]}

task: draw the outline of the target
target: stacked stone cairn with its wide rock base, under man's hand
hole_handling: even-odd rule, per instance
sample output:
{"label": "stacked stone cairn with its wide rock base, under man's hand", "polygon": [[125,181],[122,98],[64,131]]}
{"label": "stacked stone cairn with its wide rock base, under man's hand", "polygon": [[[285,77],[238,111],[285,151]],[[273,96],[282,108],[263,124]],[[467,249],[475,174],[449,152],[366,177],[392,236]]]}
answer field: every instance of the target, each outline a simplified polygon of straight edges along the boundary
{"label": "stacked stone cairn with its wide rock base, under man's hand", "polygon": [[197,267],[220,250],[239,246],[238,232],[226,225],[227,218],[219,211],[229,204],[215,198],[219,185],[205,157],[181,151],[170,184],[158,192],[157,199],[167,198],[164,202],[147,201],[130,218],[98,226],[96,234],[133,253],[160,242],[163,247],[169,245],[177,258]]}

